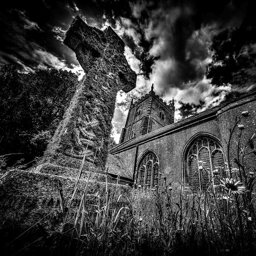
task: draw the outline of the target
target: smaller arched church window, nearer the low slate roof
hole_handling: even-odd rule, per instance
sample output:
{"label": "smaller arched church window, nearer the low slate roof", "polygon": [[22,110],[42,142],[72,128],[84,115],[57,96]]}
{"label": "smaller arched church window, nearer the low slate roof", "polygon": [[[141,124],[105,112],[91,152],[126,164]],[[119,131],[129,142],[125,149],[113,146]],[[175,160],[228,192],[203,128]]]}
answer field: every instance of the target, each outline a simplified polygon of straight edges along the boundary
{"label": "smaller arched church window, nearer the low slate roof", "polygon": [[158,184],[159,174],[158,158],[153,152],[148,152],[138,165],[137,184],[152,188]]}

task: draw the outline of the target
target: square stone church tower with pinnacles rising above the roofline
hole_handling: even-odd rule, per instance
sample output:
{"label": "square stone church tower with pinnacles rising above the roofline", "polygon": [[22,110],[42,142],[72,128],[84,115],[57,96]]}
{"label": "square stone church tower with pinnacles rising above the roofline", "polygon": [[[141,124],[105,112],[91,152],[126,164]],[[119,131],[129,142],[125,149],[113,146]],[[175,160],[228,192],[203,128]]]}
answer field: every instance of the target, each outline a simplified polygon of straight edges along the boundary
{"label": "square stone church tower with pinnacles rising above the roofline", "polygon": [[174,123],[174,111],[174,100],[167,105],[156,95],[152,84],[149,93],[136,102],[132,100],[119,143]]}

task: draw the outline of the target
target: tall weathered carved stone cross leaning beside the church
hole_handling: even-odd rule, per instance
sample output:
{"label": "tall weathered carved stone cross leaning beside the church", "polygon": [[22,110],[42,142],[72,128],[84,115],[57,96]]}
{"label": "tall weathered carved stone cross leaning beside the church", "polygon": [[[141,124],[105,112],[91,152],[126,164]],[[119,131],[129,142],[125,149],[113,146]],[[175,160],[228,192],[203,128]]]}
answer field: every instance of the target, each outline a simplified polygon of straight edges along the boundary
{"label": "tall weathered carved stone cross leaning beside the church", "polygon": [[123,52],[124,42],[108,27],[101,31],[85,24],[78,16],[67,31],[64,44],[71,48],[86,73],[58,126],[46,154],[53,162],[81,159],[96,166],[105,164],[112,130],[116,95],[136,87],[136,74]]}

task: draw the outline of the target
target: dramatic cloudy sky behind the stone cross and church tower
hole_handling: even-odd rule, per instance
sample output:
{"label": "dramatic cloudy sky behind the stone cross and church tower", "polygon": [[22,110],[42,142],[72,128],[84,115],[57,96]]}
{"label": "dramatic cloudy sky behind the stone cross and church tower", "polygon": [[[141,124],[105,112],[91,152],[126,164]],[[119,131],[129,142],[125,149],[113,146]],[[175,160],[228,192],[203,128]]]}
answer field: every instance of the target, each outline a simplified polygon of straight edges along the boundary
{"label": "dramatic cloudy sky behind the stone cross and church tower", "polygon": [[[152,83],[167,103],[174,97],[176,121],[220,104],[233,87],[206,78],[215,53],[212,40],[239,28],[251,9],[249,0],[8,0],[1,7],[0,67],[12,64],[20,72],[66,69],[81,79],[84,73],[74,52],[63,45],[76,15],[102,30],[111,26],[123,39],[137,85],[127,94],[118,92],[112,122],[116,142],[131,100],[149,92]],[[256,44],[250,49],[256,53]]]}

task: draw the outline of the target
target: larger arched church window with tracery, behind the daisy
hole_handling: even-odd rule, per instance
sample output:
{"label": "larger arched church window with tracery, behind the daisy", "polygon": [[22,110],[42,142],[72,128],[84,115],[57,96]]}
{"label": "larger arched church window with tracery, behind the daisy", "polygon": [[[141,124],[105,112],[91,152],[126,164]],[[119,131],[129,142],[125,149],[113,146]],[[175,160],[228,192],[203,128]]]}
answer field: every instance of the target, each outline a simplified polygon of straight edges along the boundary
{"label": "larger arched church window with tracery, behind the daisy", "polygon": [[214,170],[219,169],[221,177],[226,177],[224,155],[220,143],[207,136],[195,139],[185,153],[185,180],[194,190],[206,189],[209,182],[218,185],[218,179],[212,179]]}

